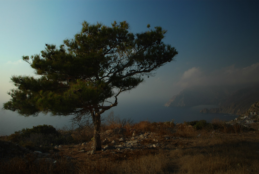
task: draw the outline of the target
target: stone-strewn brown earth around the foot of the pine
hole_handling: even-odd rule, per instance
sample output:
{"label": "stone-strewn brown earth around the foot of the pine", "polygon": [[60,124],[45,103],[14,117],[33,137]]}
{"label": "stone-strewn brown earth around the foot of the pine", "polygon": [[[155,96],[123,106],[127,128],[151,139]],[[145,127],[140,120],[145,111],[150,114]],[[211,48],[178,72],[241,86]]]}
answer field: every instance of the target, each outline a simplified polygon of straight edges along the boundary
{"label": "stone-strewn brown earth around the foot of the pine", "polygon": [[[126,129],[115,128],[113,130],[107,130],[102,134],[104,140],[102,141],[102,151],[94,152],[93,142],[83,142],[76,145],[59,145],[52,147],[53,150],[48,150],[44,153],[39,150],[31,150],[12,141],[1,141],[0,142],[0,153],[2,159],[9,159],[15,156],[24,156],[25,154],[32,154],[39,158],[44,158],[46,161],[56,162],[56,158],[59,156],[66,157],[67,159],[81,158],[82,156],[88,156],[91,158],[94,154],[102,154],[103,156],[115,155],[117,157],[127,157],[126,154],[139,151],[143,149],[158,150],[166,148],[167,144],[177,140],[183,140],[184,138],[161,136],[152,132],[136,133],[134,131],[131,138],[124,138],[123,134]],[[42,147],[40,147],[42,148]],[[45,148],[47,149],[47,148]],[[84,158],[83,157],[83,158]]]}

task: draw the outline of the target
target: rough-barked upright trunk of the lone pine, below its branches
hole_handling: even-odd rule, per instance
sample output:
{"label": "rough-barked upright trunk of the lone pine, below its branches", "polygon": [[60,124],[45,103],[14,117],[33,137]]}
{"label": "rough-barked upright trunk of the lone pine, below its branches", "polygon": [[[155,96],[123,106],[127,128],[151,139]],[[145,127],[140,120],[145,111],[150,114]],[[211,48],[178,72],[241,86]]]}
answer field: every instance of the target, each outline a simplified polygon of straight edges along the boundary
{"label": "rough-barked upright trunk of the lone pine, below its branches", "polygon": [[93,147],[94,147],[94,151],[102,150],[101,136],[100,136],[101,115],[95,114],[94,112],[92,112],[92,118],[93,118]]}

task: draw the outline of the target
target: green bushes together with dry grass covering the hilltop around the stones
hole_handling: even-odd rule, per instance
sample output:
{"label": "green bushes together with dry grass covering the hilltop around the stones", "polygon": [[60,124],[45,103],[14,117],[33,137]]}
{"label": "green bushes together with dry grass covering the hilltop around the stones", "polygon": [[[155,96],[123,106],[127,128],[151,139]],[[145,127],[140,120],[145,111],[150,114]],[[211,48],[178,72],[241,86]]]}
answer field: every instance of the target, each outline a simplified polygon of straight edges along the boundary
{"label": "green bushes together with dry grass covering the hilltop around the stones", "polygon": [[[131,119],[114,117],[113,113],[102,127],[102,140],[132,139],[133,133],[152,133],[153,138],[139,141],[142,145],[139,149],[122,152],[113,149],[90,155],[87,153],[93,147],[90,125],[59,130],[39,125],[1,137],[0,173],[259,173],[258,131],[252,128],[218,120],[212,123],[205,120],[181,124],[175,124],[174,120],[133,123]],[[125,131],[107,134],[116,127]],[[161,146],[145,148],[154,141]],[[78,145],[83,142],[86,146]],[[62,148],[56,149],[55,145]],[[19,152],[17,146],[42,153],[53,150],[59,155],[53,154],[53,163],[38,158],[35,153]],[[85,152],[79,153],[82,149]]]}

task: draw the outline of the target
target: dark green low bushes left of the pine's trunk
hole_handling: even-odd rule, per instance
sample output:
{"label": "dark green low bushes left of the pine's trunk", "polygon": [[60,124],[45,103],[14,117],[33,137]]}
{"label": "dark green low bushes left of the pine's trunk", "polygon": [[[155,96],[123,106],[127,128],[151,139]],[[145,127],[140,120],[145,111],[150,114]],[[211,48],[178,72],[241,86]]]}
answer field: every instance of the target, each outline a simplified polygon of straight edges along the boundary
{"label": "dark green low bushes left of the pine's trunk", "polygon": [[24,128],[6,137],[6,140],[31,148],[49,145],[65,145],[90,141],[93,129],[90,126],[56,130],[52,125],[38,125]]}

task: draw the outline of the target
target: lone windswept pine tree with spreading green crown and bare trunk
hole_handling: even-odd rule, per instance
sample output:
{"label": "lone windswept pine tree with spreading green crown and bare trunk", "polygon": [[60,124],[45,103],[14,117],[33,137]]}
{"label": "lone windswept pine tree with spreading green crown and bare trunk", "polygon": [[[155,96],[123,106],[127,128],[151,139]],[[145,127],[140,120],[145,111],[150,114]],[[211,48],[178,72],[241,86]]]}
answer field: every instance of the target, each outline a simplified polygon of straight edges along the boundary
{"label": "lone windswept pine tree with spreading green crown and bare trunk", "polygon": [[23,56],[37,76],[12,76],[17,87],[8,93],[3,109],[24,116],[89,116],[94,126],[94,150],[101,150],[100,116],[118,104],[119,94],[136,88],[143,76],[154,76],[178,54],[162,39],[166,30],[154,27],[133,34],[126,21],[111,27],[84,21],[73,39],[57,48],[45,44],[41,54]]}

